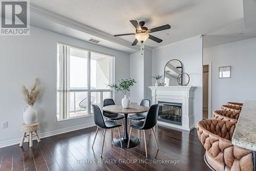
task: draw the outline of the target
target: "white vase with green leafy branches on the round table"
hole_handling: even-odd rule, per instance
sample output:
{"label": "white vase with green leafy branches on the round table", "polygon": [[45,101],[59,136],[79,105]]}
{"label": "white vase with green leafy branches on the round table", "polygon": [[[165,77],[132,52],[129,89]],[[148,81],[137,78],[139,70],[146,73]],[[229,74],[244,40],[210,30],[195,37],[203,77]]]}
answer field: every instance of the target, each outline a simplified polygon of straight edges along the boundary
{"label": "white vase with green leafy branches on the round table", "polygon": [[130,87],[132,87],[134,83],[136,83],[136,81],[132,78],[121,79],[118,81],[118,83],[111,83],[108,84],[106,87],[110,87],[117,92],[121,91],[124,94],[124,98],[122,99],[122,106],[123,108],[129,108],[130,97],[127,96],[127,91],[130,91]]}

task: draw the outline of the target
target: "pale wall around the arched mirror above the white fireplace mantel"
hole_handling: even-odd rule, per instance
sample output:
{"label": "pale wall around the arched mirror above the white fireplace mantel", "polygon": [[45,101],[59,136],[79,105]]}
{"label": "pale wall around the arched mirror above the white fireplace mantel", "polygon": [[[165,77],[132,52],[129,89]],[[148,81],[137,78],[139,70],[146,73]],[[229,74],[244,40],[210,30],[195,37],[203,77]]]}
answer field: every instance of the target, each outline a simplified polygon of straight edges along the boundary
{"label": "pale wall around the arched mirror above the white fireplace mantel", "polygon": [[[172,45],[153,50],[153,75],[164,74],[164,66],[171,59],[182,62],[183,72],[190,76],[188,86],[197,87],[194,92],[193,113],[194,123],[202,119],[202,73],[203,73],[203,45],[200,36],[186,39]],[[160,80],[163,82],[163,79]],[[153,80],[153,85],[155,80]]]}

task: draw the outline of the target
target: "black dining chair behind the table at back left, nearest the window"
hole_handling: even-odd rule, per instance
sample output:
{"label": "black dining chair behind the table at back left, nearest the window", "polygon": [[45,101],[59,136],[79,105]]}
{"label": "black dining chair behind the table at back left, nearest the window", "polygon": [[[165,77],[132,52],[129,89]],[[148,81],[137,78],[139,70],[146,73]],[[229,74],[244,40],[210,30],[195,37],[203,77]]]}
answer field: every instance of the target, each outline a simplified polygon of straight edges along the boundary
{"label": "black dining chair behind the table at back left, nearest the window", "polygon": [[[103,107],[107,106],[107,105],[115,105],[115,101],[113,99],[104,99],[103,100]],[[116,120],[120,120],[121,119],[122,120],[122,125],[123,125],[123,118],[124,118],[123,115],[103,111],[103,116],[107,120],[114,120],[114,121],[116,121]],[[124,125],[123,125],[123,130],[124,130]],[[112,132],[111,135],[112,135],[112,139],[113,139],[113,132]]]}

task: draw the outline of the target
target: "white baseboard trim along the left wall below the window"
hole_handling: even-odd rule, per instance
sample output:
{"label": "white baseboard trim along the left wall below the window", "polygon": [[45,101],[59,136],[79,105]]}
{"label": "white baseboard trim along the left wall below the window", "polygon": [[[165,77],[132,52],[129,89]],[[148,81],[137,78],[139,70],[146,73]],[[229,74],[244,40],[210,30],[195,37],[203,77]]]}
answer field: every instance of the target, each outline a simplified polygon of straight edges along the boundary
{"label": "white baseboard trim along the left wall below the window", "polygon": [[[87,127],[92,127],[92,126],[95,126],[95,123],[93,123],[93,122],[86,123],[86,124],[82,124],[82,125],[67,127],[65,129],[59,129],[59,130],[49,131],[49,132],[45,132],[45,133],[40,133],[39,137],[40,138],[50,137],[50,136],[54,136],[54,135],[58,135],[58,134],[63,134],[63,133],[68,133],[68,132],[72,132],[72,131],[76,131],[76,130],[85,129]],[[0,142],[0,148],[14,145],[14,144],[19,144],[20,139],[21,139],[21,137],[15,138],[12,140],[2,141],[2,142]]]}

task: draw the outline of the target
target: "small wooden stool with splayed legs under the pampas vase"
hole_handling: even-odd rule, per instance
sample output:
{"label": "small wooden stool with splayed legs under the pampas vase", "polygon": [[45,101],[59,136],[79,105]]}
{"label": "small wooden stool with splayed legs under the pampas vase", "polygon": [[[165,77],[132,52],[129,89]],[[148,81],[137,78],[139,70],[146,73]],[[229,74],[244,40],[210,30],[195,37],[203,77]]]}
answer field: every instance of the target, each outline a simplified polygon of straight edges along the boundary
{"label": "small wooden stool with splayed legs under the pampas vase", "polygon": [[[36,137],[37,141],[40,142],[40,138],[37,134],[37,130],[39,129],[39,122],[35,122],[33,124],[27,125],[25,123],[22,124],[21,130],[23,132],[22,141],[20,142],[19,146],[23,146],[23,142],[25,138],[29,139],[29,147],[33,146],[33,137]],[[35,135],[33,135],[33,131]],[[28,133],[28,135],[26,135]]]}

